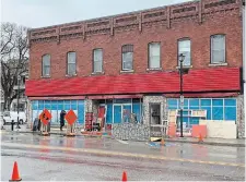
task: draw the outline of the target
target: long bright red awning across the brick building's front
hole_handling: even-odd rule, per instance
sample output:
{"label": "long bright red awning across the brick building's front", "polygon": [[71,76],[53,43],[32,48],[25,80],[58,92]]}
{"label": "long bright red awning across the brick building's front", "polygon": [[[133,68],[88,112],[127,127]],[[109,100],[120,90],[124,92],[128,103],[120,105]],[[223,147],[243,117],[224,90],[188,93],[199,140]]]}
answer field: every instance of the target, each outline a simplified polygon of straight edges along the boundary
{"label": "long bright red awning across the brick building's front", "polygon": [[[239,92],[239,68],[190,70],[184,92]],[[26,96],[92,96],[179,93],[178,72],[26,81]]]}

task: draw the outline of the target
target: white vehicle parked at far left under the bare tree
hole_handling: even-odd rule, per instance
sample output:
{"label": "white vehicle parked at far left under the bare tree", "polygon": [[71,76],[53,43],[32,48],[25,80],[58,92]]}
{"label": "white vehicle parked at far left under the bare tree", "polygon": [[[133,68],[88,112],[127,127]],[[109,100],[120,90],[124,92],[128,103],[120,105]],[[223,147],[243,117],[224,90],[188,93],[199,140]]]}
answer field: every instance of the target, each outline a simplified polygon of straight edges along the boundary
{"label": "white vehicle parked at far left under the bare tree", "polygon": [[[3,112],[3,124],[11,123],[14,120],[14,123],[17,123],[17,112],[16,111],[4,111]],[[26,122],[25,112],[19,112],[19,122],[23,124]]]}

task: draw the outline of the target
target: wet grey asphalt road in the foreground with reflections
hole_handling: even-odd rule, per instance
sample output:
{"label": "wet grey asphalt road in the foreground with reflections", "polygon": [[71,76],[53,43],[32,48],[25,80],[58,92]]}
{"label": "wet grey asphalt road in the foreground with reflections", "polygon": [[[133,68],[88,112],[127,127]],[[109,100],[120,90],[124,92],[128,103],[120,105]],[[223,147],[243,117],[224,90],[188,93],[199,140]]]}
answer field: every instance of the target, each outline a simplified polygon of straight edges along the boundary
{"label": "wet grey asphalt road in the foreground with reflections", "polygon": [[1,133],[1,181],[245,181],[245,148]]}

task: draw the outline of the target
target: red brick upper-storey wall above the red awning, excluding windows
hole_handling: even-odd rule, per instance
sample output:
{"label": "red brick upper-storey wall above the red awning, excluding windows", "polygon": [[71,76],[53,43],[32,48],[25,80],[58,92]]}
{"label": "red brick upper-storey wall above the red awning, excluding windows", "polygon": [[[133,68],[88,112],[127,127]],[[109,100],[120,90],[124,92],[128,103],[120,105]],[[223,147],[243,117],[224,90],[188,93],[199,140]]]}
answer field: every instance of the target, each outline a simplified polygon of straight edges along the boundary
{"label": "red brick upper-storey wall above the red awning, excluding windows", "polygon": [[[216,2],[216,3],[215,3]],[[103,48],[105,75],[121,71],[121,46],[133,45],[134,73],[149,72],[148,44],[161,43],[162,71],[176,70],[177,40],[191,40],[191,69],[210,68],[210,36],[225,34],[227,66],[242,66],[241,0],[202,0],[30,31],[30,80],[42,77],[51,56],[51,78],[66,77],[67,52],[77,51],[77,76],[92,75],[92,52]]]}

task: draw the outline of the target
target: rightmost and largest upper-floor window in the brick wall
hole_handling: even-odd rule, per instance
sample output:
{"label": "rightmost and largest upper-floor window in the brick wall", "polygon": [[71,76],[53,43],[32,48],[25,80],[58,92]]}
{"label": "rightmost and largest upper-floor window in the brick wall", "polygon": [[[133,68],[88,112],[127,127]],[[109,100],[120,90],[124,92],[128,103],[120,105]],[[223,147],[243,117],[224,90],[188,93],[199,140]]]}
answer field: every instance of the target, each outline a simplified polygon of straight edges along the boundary
{"label": "rightmost and largest upper-floor window in the brick wall", "polygon": [[225,63],[225,35],[211,36],[211,63]]}

